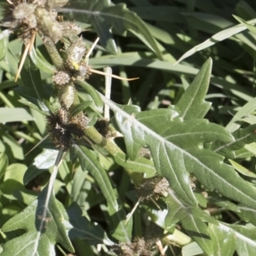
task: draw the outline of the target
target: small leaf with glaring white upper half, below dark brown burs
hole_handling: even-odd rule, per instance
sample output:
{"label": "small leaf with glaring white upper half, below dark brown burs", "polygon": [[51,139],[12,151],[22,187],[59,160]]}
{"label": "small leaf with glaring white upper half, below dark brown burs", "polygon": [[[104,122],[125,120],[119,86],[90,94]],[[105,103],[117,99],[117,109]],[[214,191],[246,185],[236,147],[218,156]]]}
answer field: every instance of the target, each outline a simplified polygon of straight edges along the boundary
{"label": "small leaf with glaring white upper half, below dark brown burs", "polygon": [[37,177],[38,174],[45,172],[55,165],[55,160],[58,155],[58,150],[55,149],[44,149],[41,154],[33,160],[32,164],[27,168],[23,178],[25,184],[29,183],[32,178]]}

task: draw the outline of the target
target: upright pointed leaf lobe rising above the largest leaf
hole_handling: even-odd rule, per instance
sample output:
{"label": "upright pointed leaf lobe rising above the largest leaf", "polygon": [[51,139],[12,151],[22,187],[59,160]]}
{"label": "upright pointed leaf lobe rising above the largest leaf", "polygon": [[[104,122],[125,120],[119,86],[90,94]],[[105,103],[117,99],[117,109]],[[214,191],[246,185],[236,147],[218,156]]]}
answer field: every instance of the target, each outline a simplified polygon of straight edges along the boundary
{"label": "upright pointed leaf lobe rising above the largest leaf", "polygon": [[211,103],[205,102],[205,96],[210,83],[211,71],[212,59],[208,59],[175,106],[180,118],[203,118],[208,112]]}

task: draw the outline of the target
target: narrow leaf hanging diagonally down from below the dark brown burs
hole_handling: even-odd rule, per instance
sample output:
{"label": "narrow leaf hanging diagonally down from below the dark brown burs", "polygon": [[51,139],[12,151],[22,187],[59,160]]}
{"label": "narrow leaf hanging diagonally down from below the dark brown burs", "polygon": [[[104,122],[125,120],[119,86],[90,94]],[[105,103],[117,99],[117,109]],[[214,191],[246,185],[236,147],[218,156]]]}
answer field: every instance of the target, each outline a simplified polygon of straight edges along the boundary
{"label": "narrow leaf hanging diagonally down from below the dark brown burs", "polygon": [[125,211],[118,200],[118,195],[113,189],[108,174],[102,168],[96,156],[88,148],[73,144],[71,158],[79,159],[82,169],[88,170],[95,178],[108,202],[108,213],[113,223],[113,237],[119,241],[131,241],[131,224],[125,225]]}

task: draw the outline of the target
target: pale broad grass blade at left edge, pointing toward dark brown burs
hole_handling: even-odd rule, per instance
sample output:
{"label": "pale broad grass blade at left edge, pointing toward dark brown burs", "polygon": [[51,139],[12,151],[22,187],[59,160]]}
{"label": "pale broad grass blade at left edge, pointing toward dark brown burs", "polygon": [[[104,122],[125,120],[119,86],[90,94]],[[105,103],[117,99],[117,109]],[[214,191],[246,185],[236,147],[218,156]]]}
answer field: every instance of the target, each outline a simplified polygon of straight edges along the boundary
{"label": "pale broad grass blade at left edge, pointing toward dark brown burs", "polygon": [[33,117],[25,108],[0,108],[0,122],[32,121]]}

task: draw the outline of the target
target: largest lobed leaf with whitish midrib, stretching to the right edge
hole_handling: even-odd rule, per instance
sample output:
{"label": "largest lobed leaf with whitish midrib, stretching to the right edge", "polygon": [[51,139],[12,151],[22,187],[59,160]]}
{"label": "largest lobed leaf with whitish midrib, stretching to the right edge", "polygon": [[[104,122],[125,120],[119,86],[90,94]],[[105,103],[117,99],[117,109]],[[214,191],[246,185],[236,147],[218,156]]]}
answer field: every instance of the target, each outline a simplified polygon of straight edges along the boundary
{"label": "largest lobed leaf with whitish midrib, stretching to the right edge", "polygon": [[130,115],[107,99],[104,102],[115,114],[130,158],[134,160],[140,148],[148,145],[158,174],[168,179],[183,201],[196,204],[189,185],[190,172],[207,189],[217,189],[231,199],[256,207],[255,189],[225,165],[222,156],[202,148],[207,142],[234,142],[224,127],[204,119],[173,119],[177,113],[171,108]]}

